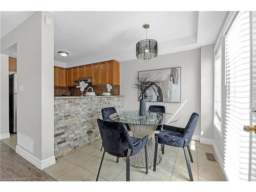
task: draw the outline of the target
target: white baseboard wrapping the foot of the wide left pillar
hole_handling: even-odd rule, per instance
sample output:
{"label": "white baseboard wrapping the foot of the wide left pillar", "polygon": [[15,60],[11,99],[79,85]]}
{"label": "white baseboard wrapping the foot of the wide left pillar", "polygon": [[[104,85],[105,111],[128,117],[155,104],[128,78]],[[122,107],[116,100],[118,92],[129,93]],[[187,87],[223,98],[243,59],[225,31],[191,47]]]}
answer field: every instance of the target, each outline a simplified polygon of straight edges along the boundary
{"label": "white baseboard wrapping the foot of the wide left pillar", "polygon": [[20,146],[16,146],[16,153],[25,158],[27,161],[35,165],[39,169],[44,169],[52,164],[55,164],[55,156],[52,156],[50,158],[40,160],[28,151],[24,150],[24,148]]}

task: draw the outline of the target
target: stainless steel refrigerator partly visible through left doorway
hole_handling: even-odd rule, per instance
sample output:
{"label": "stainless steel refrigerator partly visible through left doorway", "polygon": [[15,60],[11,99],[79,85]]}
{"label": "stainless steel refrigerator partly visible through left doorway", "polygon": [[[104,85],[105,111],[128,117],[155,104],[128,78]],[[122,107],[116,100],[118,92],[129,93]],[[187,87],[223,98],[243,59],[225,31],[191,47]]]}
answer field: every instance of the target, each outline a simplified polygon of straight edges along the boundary
{"label": "stainless steel refrigerator partly visible through left doorway", "polygon": [[17,132],[17,74],[9,75],[9,131]]}

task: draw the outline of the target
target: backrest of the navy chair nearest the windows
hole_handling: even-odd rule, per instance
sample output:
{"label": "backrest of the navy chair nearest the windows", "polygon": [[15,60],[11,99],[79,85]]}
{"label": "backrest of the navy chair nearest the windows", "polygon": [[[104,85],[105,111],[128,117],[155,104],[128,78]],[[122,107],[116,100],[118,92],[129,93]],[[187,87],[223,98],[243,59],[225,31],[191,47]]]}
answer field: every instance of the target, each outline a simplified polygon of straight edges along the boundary
{"label": "backrest of the navy chair nearest the windows", "polygon": [[184,130],[184,134],[183,134],[183,138],[188,140],[187,145],[190,143],[191,138],[194,134],[198,119],[199,119],[199,114],[193,113],[187,122],[187,125]]}

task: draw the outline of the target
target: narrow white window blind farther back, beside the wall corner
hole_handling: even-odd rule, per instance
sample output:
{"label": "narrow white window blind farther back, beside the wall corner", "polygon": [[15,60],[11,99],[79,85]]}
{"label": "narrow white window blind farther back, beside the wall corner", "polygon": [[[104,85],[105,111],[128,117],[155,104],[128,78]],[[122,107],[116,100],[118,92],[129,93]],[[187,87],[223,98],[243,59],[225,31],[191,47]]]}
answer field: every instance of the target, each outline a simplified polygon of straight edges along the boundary
{"label": "narrow white window blind farther back, beside the wall corner", "polygon": [[214,62],[214,124],[221,133],[221,44],[215,51]]}

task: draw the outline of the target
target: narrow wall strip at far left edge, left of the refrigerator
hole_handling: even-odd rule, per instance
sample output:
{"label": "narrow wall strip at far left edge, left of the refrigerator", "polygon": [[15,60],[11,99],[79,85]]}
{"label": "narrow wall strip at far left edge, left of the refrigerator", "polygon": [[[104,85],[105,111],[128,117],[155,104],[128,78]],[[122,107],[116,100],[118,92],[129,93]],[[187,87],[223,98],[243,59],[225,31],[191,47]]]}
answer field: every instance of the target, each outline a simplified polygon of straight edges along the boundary
{"label": "narrow wall strip at far left edge, left of the refrigerator", "polygon": [[0,139],[9,134],[9,58],[1,54],[0,62]]}

